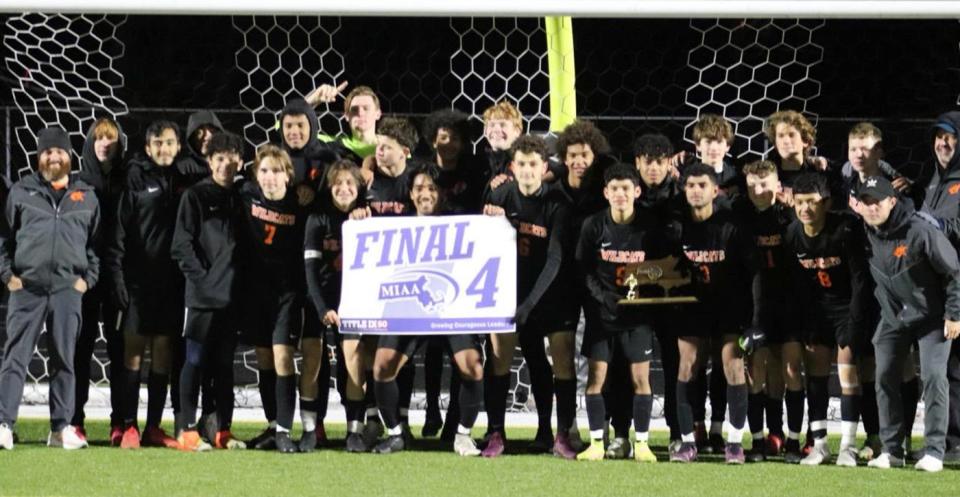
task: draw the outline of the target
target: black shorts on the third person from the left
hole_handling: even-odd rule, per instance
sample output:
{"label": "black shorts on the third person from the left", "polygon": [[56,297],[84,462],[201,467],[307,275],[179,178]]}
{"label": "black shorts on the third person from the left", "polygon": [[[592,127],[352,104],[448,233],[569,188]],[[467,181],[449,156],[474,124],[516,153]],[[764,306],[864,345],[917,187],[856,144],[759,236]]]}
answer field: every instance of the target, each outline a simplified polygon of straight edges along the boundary
{"label": "black shorts on the third person from the left", "polygon": [[182,329],[183,292],[130,288],[130,305],[121,311],[120,331],[130,335],[177,336]]}

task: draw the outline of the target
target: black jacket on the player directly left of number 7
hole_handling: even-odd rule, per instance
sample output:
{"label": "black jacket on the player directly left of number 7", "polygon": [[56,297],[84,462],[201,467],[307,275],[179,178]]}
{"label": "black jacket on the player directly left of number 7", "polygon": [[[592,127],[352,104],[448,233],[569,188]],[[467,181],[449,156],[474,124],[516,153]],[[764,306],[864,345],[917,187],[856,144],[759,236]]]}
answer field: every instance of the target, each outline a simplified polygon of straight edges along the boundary
{"label": "black jacket on the player directly left of number 7", "polygon": [[188,307],[221,309],[237,287],[239,196],[206,178],[180,198],[170,254],[186,278]]}

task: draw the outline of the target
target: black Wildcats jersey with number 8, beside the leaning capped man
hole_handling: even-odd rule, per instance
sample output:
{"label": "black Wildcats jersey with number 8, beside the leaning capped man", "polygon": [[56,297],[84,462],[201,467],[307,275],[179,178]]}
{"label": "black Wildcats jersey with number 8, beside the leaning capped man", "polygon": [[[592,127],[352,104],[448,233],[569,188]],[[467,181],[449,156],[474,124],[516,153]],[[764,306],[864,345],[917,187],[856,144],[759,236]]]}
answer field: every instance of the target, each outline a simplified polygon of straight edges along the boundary
{"label": "black Wildcats jersey with number 8, beside the leaning capped man", "polygon": [[798,272],[791,278],[798,304],[808,316],[848,317],[848,333],[865,330],[870,299],[867,245],[863,224],[853,215],[827,213],[817,236],[807,236],[793,221],[784,238]]}

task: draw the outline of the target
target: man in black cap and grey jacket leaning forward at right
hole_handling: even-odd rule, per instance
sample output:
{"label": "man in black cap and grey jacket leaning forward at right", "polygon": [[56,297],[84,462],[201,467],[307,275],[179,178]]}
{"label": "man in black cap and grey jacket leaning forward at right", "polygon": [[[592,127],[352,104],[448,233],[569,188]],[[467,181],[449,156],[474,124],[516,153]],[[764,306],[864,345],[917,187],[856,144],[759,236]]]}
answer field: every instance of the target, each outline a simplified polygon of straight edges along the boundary
{"label": "man in black cap and grey jacket leaning forward at right", "polygon": [[[927,215],[897,199],[884,177],[867,178],[860,190],[870,240],[870,272],[877,281],[880,326],[873,344],[877,357],[877,399],[883,453],[874,468],[903,466],[904,430],[901,370],[911,342],[920,349],[926,454],[916,469],[943,469],[947,430],[947,357],[960,337],[960,262],[949,240]],[[922,289],[922,292],[918,292]]]}

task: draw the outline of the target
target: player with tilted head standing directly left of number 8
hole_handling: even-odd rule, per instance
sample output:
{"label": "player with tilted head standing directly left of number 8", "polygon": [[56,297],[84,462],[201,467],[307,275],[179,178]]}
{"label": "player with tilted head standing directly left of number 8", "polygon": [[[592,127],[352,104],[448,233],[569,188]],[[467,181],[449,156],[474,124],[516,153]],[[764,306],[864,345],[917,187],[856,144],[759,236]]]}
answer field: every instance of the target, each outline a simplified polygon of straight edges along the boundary
{"label": "player with tilted head standing directly left of number 8", "polygon": [[[767,346],[750,356],[748,377],[750,393],[747,398],[747,420],[753,437],[753,446],[747,460],[763,461],[767,447],[763,438],[763,417],[767,413],[767,425],[771,439],[783,439],[783,387],[786,387],[787,441],[786,459],[800,460],[800,430],[803,428],[803,379],[800,364],[803,347],[800,341],[798,309],[792,303],[789,292],[791,271],[790,259],[784,250],[783,236],[793,220],[793,210],[779,201],[780,181],[777,166],[769,161],[757,161],[743,168],[747,195],[734,204],[740,223],[760,253],[760,276],[768,291],[763,297],[765,313],[760,316],[760,327],[765,331]],[[773,371],[777,368],[776,371]],[[774,389],[768,380],[780,379]],[[774,408],[771,409],[770,407]],[[772,418],[772,419],[771,419]],[[779,428],[779,430],[776,430]],[[779,453],[780,443],[771,444],[770,455]]]}

